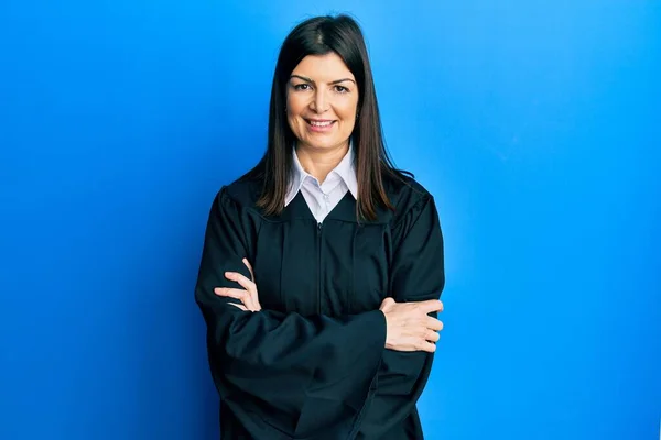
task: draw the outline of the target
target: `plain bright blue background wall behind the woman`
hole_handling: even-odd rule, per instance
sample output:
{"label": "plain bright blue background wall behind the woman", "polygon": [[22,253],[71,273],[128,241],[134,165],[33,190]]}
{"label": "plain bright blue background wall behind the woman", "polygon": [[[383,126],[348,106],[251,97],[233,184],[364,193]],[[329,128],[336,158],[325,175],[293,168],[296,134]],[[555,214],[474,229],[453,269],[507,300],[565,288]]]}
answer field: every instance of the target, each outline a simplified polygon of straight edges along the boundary
{"label": "plain bright blue background wall behind the woman", "polygon": [[213,439],[208,208],[279,46],[353,12],[436,197],[429,439],[659,438],[658,1],[0,1],[0,439]]}

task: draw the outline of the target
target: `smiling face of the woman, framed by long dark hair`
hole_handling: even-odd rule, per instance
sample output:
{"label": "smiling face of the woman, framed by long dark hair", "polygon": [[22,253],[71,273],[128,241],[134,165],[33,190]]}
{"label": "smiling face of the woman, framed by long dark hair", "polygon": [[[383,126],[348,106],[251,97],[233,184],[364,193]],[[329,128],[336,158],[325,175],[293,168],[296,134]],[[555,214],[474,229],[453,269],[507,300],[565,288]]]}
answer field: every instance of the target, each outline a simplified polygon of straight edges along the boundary
{"label": "smiling face of the woman, framed by long dark hair", "polygon": [[336,53],[308,55],[292,72],[286,113],[299,145],[315,150],[347,145],[357,107],[356,79]]}

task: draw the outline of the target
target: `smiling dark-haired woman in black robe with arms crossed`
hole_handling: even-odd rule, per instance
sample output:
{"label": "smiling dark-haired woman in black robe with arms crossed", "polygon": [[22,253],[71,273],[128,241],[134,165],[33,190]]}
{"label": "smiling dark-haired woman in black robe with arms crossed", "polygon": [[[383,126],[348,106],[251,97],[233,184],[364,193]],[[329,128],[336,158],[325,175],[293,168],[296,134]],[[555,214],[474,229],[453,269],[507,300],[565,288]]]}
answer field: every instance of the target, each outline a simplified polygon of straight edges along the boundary
{"label": "smiling dark-haired woman in black robe with arms crossed", "polygon": [[268,142],[216,196],[195,293],[221,438],[422,439],[443,239],[432,196],[386,153],[354,20],[286,37]]}

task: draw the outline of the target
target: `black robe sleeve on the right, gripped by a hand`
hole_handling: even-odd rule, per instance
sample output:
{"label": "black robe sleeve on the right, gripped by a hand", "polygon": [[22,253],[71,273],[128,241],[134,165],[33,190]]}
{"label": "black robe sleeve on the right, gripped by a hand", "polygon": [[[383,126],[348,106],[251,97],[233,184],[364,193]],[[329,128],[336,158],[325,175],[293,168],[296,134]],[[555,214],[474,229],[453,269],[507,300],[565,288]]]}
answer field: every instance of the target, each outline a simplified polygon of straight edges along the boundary
{"label": "black robe sleeve on the right, gripped by a hand", "polygon": [[[432,196],[425,196],[404,215],[392,238],[397,248],[391,296],[398,302],[438,299],[445,286],[443,235]],[[383,350],[376,395],[357,439],[389,438],[393,427],[411,415],[427,382],[433,358],[434,353],[423,351]]]}

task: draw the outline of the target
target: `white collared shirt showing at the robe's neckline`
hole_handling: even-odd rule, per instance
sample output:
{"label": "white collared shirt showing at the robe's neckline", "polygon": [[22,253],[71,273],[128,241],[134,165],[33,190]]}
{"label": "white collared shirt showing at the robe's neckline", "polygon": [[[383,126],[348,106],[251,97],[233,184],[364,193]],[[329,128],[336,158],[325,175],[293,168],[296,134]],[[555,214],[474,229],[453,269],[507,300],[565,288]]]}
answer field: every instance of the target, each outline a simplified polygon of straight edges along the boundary
{"label": "white collared shirt showing at the robe's neckline", "polygon": [[337,164],[326,179],[319,184],[316,177],[307,174],[293,148],[294,167],[292,169],[290,187],[284,199],[286,207],[301,191],[310,211],[321,223],[328,212],[333,210],[344,198],[347,191],[351,193],[355,199],[358,199],[358,180],[356,178],[356,168],[354,166],[354,148],[349,143],[349,150],[344,158]]}

